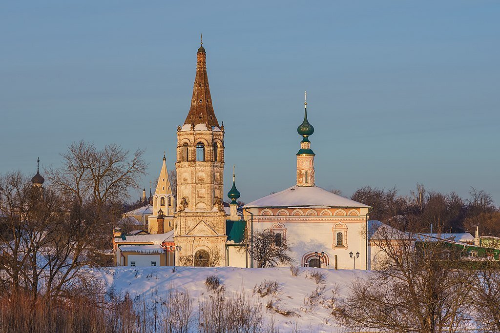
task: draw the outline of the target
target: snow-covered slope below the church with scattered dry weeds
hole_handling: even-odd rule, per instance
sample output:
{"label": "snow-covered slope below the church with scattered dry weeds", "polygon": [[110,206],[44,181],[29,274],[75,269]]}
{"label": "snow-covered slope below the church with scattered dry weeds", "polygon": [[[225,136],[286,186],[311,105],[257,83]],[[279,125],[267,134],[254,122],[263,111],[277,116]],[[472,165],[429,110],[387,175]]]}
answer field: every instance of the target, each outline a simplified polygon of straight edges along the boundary
{"label": "snow-covered slope below the church with scattered dry weeds", "polygon": [[[318,285],[314,280],[307,278],[315,271],[325,273],[324,283]],[[204,284],[207,276],[217,275],[228,293],[244,289],[248,295],[252,295],[255,285],[259,285],[264,280],[277,281],[279,291],[275,295],[263,298],[258,294],[252,296],[262,304],[264,327],[274,317],[275,326],[282,332],[290,332],[297,327],[301,328],[301,332],[339,332],[330,315],[329,304],[333,290],[337,290],[337,295],[343,296],[348,292],[351,281],[366,277],[369,272],[300,268],[300,273],[294,277],[288,268],[177,267],[172,273],[171,267],[115,267],[102,271],[101,274],[107,286],[113,286],[116,292],[128,292],[132,297],[139,295],[146,300],[151,298],[155,286],[160,296],[166,294],[171,286],[179,289],[185,287],[194,299],[195,308],[199,297],[208,294]],[[323,285],[324,291],[321,293],[318,304],[313,307],[306,304],[304,299],[316,288],[322,289]],[[271,298],[274,301],[274,307],[292,311],[296,316],[285,317],[266,309],[265,305]]]}

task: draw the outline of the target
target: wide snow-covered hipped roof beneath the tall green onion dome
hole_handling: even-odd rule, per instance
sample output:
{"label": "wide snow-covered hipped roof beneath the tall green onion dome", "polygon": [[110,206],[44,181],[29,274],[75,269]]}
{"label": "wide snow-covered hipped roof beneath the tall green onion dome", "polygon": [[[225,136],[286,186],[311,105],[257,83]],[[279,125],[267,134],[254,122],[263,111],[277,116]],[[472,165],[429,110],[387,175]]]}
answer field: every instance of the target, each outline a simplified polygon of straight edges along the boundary
{"label": "wide snow-covered hipped roof beneath the tall green onion dome", "polygon": [[281,192],[269,194],[246,204],[253,207],[345,207],[368,208],[369,206],[323,190],[317,186],[292,186]]}

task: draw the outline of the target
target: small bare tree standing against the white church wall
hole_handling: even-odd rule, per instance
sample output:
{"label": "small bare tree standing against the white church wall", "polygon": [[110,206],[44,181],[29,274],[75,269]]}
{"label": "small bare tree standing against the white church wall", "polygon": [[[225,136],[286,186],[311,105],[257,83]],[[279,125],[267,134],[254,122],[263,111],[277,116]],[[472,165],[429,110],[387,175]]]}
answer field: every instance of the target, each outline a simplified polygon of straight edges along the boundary
{"label": "small bare tree standing against the white church wall", "polygon": [[[253,238],[248,239],[248,244],[250,243],[252,246],[248,248],[248,255],[257,261],[258,268],[293,264],[286,237],[279,238],[277,243],[276,234],[271,230],[256,231],[253,233]],[[241,251],[244,251],[244,248]]]}

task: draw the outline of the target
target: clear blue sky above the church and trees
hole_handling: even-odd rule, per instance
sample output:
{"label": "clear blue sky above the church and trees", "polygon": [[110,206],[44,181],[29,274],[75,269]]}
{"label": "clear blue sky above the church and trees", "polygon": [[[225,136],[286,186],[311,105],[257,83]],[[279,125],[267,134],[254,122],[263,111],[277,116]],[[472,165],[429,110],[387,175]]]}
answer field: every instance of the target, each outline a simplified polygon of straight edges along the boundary
{"label": "clear blue sky above the church and trees", "polygon": [[163,151],[174,168],[203,33],[225,192],[233,164],[245,202],[295,184],[307,90],[317,186],[498,205],[498,17],[485,0],[2,1],[0,173],[84,139],[146,149],[148,189]]}

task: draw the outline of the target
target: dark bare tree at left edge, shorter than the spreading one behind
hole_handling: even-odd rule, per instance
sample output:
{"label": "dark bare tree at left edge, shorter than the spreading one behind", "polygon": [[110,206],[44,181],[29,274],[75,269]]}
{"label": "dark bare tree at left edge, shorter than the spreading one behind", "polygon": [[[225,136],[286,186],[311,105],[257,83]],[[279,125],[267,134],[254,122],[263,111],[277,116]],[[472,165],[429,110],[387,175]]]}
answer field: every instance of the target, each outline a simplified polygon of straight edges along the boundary
{"label": "dark bare tree at left edge, shorter than the spreading one behind", "polygon": [[0,235],[0,288],[22,288],[36,299],[95,287],[83,269],[93,265],[95,210],[64,200],[53,187],[33,187],[18,172],[0,177],[0,188],[7,230]]}

